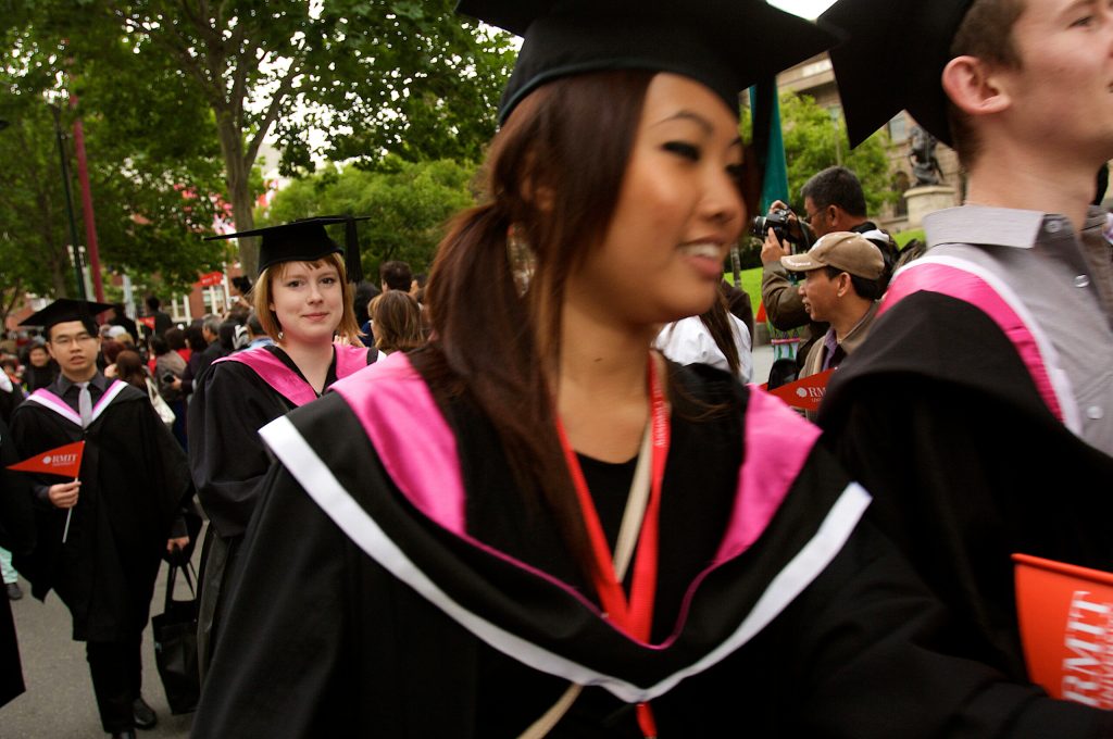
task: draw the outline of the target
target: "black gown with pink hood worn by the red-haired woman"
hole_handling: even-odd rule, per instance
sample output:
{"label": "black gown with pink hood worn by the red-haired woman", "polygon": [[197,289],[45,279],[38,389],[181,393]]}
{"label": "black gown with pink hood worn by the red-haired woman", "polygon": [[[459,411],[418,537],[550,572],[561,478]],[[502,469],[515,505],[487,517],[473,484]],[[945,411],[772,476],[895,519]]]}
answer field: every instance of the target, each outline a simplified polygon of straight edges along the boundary
{"label": "black gown with pink hood worn by the red-haired woman", "polygon": [[[367,366],[375,349],[336,345],[325,377],[328,387]],[[293,359],[274,345],[216,359],[203,375],[187,412],[189,466],[209,519],[198,618],[198,650],[207,661],[220,591],[252,519],[257,489],[270,456],[258,437],[268,422],[316,400]]]}

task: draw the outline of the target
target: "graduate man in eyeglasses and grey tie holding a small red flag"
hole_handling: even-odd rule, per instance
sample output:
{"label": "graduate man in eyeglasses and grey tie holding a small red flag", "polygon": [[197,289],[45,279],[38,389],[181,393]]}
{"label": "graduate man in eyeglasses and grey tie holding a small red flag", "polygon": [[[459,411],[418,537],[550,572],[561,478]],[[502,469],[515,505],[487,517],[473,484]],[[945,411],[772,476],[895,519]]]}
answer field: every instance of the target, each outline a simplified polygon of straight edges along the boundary
{"label": "graduate man in eyeglasses and grey tie holding a small red flag", "polygon": [[180,511],[191,489],[147,394],[97,368],[92,316],[109,307],[63,298],[24,322],[43,327],[61,372],[12,415],[19,459],[86,444],[77,480],[33,475],[38,543],[16,565],[36,598],[55,590],[69,609],[105,731],[134,737],[156,722],[140,694],[139,650],[160,555],[189,541]]}

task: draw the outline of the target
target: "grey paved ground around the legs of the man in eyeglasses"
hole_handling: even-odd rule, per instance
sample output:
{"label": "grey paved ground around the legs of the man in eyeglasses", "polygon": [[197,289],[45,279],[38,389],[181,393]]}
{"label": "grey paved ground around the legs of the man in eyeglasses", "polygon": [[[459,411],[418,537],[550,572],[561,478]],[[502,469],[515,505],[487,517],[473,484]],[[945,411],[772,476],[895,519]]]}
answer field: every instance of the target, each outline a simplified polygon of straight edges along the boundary
{"label": "grey paved ground around the legs of the man in eyeglasses", "polygon": [[[200,548],[198,548],[199,550]],[[176,584],[178,598],[188,589]],[[70,639],[69,611],[50,593],[45,603],[31,598],[30,585],[20,580],[23,599],[13,601],[19,651],[23,661],[27,692],[0,708],[0,737],[10,739],[91,739],[105,737],[92,696],[85,644]],[[166,565],[155,588],[151,614],[161,613],[166,592]],[[2,594],[0,594],[2,597]],[[158,713],[158,725],[138,732],[140,739],[186,739],[190,716],[171,716],[166,693],[155,668],[155,648],[150,627],[144,633],[144,697]]]}

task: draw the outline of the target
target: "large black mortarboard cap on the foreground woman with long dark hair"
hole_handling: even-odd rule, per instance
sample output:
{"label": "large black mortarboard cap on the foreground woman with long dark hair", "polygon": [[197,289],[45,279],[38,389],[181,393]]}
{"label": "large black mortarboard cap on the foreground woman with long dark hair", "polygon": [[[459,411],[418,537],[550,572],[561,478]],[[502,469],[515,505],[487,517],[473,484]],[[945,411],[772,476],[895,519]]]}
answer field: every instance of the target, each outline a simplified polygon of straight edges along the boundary
{"label": "large black mortarboard cap on the foreground woman with long dark hair", "polygon": [[545,82],[608,69],[683,75],[737,110],[739,92],[837,39],[764,0],[461,0],[456,10],[523,37],[502,121]]}

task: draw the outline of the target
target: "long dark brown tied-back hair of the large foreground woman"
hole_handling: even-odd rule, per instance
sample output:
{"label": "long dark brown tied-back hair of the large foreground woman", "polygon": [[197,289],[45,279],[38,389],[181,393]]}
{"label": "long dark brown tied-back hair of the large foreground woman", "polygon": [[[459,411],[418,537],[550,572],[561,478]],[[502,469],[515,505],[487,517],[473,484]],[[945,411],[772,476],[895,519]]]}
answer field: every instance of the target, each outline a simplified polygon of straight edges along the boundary
{"label": "long dark brown tied-back hair of the large foreground woman", "polygon": [[[523,100],[492,142],[490,200],[453,221],[426,292],[433,351],[418,367],[434,392],[466,392],[492,421],[526,501],[548,505],[581,565],[587,540],[552,395],[561,305],[610,223],[652,77],[579,75]],[[534,255],[524,295],[508,257],[511,225]]]}

